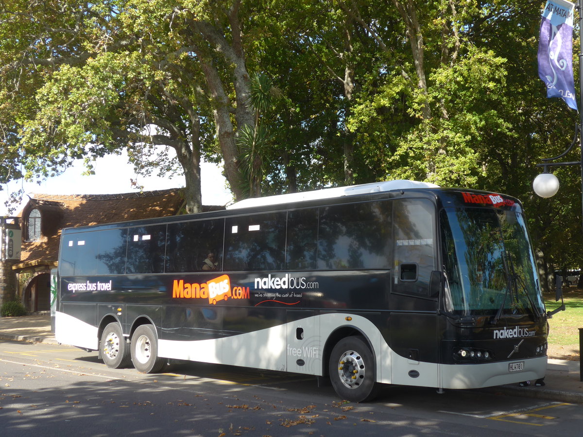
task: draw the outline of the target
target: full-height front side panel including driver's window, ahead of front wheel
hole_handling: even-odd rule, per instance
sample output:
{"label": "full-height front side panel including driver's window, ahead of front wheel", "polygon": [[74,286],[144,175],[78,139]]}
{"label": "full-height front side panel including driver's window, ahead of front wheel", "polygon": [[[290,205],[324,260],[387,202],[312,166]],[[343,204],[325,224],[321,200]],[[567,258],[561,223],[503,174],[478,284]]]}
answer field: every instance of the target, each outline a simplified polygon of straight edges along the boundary
{"label": "full-height front side panel including driver's window, ahead of front wheel", "polygon": [[395,384],[438,386],[437,296],[429,287],[437,268],[435,210],[429,199],[394,203],[389,338]]}

